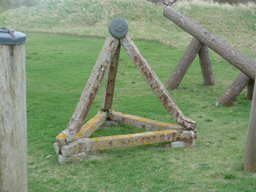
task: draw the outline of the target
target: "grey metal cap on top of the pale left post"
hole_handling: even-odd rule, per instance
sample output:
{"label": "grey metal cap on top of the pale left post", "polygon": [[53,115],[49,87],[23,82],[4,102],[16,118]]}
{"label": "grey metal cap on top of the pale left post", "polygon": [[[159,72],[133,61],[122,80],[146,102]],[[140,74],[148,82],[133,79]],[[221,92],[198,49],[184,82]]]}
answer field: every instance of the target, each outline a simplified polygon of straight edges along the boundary
{"label": "grey metal cap on top of the pale left post", "polygon": [[22,44],[27,41],[26,35],[6,27],[0,27],[0,44]]}

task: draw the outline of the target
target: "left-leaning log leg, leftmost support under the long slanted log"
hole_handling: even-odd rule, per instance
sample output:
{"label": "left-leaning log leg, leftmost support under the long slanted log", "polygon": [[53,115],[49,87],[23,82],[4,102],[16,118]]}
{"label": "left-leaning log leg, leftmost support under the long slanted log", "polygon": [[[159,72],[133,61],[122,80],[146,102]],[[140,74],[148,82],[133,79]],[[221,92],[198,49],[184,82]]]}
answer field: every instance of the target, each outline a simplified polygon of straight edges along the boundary
{"label": "left-leaning log leg, leftmost support under the long slanted log", "polygon": [[180,82],[182,81],[186,72],[188,71],[188,68],[194,61],[201,46],[202,43],[198,41],[196,38],[193,38],[193,40],[188,45],[186,52],[182,56],[180,62],[176,66],[174,72],[172,73],[168,82],[166,83],[166,88],[170,88],[171,90],[178,88]]}

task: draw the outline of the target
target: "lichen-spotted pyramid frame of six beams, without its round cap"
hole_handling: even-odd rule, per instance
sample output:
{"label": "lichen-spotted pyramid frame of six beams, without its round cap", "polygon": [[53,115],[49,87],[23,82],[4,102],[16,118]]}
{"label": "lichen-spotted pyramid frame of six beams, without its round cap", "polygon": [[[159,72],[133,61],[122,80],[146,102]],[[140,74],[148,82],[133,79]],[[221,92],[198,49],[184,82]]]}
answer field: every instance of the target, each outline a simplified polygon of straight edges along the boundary
{"label": "lichen-spotted pyramid frame of six beams, without its round cap", "polygon": [[[152,90],[158,96],[166,110],[180,126],[110,110],[113,101],[121,45],[137,66],[142,76],[144,76]],[[106,84],[102,108],[94,118],[84,124],[105,73]],[[88,138],[95,130],[106,122],[106,111],[108,111],[108,118],[110,118],[110,120],[144,128],[153,132]],[[85,152],[92,150],[172,141],[192,143],[197,135],[195,127],[196,123],[182,114],[181,110],[178,108],[166,88],[164,88],[164,85],[159,80],[158,76],[156,76],[155,72],[142,56],[129,35],[126,34],[126,36],[120,39],[109,35],[68,127],[56,137],[57,143],[54,144],[54,148],[58,154],[59,162],[64,163],[69,160],[80,160],[79,156],[84,156]]]}

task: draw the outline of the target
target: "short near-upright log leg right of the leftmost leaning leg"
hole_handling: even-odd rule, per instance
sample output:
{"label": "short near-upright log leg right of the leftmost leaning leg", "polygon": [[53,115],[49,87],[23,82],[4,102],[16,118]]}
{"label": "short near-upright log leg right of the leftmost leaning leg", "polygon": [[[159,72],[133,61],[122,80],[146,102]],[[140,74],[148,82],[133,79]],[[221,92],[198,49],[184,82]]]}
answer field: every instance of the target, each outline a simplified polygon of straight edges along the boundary
{"label": "short near-upright log leg right of the leftmost leaning leg", "polygon": [[212,61],[209,54],[209,49],[207,46],[202,44],[198,52],[201,71],[204,79],[204,85],[211,86],[215,84],[214,73],[212,70]]}

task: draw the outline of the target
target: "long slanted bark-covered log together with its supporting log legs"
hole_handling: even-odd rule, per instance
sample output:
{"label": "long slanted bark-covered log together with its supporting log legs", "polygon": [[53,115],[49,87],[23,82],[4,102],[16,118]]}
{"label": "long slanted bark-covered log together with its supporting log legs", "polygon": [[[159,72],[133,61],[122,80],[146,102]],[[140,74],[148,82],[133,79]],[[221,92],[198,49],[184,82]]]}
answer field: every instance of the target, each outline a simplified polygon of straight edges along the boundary
{"label": "long slanted bark-covered log together with its supporting log legs", "polygon": [[166,88],[172,90],[178,88],[197,53],[200,58],[204,83],[205,85],[213,85],[215,80],[208,52],[209,47],[242,72],[221,96],[218,102],[216,102],[216,105],[224,104],[225,106],[230,106],[246,86],[248,99],[252,100],[254,80],[256,76],[256,63],[253,60],[236,50],[224,40],[196,24],[172,8],[172,6],[166,6],[164,9],[164,16],[194,37],[176,69],[172,73],[172,76],[170,76],[170,79],[166,83]]}

